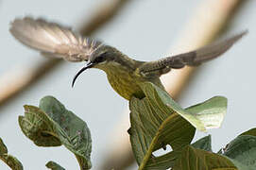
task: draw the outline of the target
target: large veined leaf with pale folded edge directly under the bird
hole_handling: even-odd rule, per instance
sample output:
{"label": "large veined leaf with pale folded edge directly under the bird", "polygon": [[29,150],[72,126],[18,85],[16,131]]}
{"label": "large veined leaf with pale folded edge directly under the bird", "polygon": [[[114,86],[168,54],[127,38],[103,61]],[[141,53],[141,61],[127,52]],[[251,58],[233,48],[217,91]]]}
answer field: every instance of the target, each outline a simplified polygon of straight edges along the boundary
{"label": "large veined leaf with pale folded edge directly under the bird", "polygon": [[195,127],[206,130],[220,125],[227,108],[227,99],[218,96],[183,110],[168,93],[154,84],[145,83],[142,89],[145,98],[133,97],[129,101],[131,127],[128,130],[140,169],[171,167],[179,156],[178,152],[160,157],[153,156],[152,152],[165,148],[166,144],[170,144],[174,151],[190,144]]}

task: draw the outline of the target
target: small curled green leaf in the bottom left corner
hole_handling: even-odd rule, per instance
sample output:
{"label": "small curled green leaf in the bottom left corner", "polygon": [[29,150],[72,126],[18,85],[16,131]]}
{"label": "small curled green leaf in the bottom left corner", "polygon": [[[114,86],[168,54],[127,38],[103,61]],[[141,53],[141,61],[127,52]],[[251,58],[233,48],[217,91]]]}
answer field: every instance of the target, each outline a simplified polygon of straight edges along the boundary
{"label": "small curled green leaf in the bottom left corner", "polygon": [[0,138],[0,160],[5,161],[12,170],[23,170],[23,165],[15,157],[8,154],[8,148]]}

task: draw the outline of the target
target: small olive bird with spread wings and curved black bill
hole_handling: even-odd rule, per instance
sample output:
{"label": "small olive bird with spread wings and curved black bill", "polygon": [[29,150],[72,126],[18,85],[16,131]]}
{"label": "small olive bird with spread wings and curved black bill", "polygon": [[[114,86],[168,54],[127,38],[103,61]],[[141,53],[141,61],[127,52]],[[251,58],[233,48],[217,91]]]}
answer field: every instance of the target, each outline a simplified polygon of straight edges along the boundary
{"label": "small olive bird with spread wings and curved black bill", "polygon": [[142,84],[145,82],[153,83],[164,90],[160,76],[172,69],[197,66],[215,59],[247,33],[247,30],[244,30],[230,38],[186,53],[153,61],[141,61],[129,58],[111,45],[83,37],[71,27],[48,22],[42,18],[16,18],[10,24],[9,31],[19,42],[41,51],[45,56],[72,62],[85,61],[85,66],[74,76],[72,87],[82,72],[97,68],[106,73],[112,89],[128,100],[133,96],[145,97],[142,90]]}

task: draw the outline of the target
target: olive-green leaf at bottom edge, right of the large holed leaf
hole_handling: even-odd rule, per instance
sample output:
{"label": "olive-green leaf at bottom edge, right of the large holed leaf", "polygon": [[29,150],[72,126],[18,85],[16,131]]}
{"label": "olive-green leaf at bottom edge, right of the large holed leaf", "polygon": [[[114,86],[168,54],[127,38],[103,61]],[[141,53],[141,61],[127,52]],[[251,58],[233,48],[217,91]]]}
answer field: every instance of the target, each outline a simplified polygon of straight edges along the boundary
{"label": "olive-green leaf at bottom edge, right of the large holed leaf", "polygon": [[181,150],[173,170],[238,170],[229,159],[191,145]]}

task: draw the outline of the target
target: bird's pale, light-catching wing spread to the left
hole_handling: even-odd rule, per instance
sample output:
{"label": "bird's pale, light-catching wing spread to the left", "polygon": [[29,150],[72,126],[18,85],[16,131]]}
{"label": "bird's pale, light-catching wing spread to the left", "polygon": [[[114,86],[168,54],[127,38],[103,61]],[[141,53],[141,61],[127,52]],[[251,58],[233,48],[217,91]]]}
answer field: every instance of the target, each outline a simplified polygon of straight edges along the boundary
{"label": "bird's pale, light-catching wing spread to the left", "polygon": [[88,60],[102,43],[83,38],[69,27],[48,23],[43,19],[15,19],[10,33],[27,46],[69,61]]}

